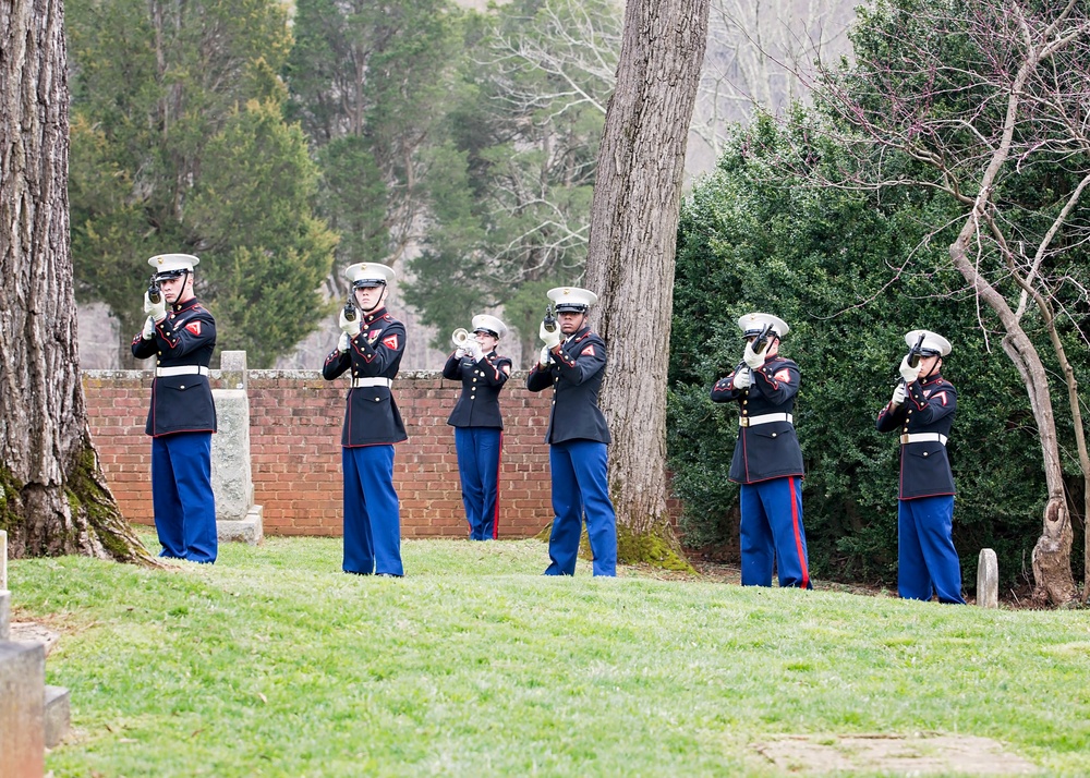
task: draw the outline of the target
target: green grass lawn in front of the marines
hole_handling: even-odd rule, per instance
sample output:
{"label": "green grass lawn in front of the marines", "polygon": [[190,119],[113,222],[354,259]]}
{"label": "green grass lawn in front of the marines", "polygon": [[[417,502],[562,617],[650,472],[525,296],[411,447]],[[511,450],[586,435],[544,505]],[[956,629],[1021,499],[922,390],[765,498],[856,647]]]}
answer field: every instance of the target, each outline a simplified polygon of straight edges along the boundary
{"label": "green grass lawn in front of the marines", "polygon": [[544,578],[536,540],[407,542],[407,578],[361,578],[340,549],[11,562],[13,619],[62,633],[47,682],[71,691],[73,733],[47,768],[771,776],[753,746],[776,734],[935,732],[1090,774],[1087,611],[593,579],[582,561]]}

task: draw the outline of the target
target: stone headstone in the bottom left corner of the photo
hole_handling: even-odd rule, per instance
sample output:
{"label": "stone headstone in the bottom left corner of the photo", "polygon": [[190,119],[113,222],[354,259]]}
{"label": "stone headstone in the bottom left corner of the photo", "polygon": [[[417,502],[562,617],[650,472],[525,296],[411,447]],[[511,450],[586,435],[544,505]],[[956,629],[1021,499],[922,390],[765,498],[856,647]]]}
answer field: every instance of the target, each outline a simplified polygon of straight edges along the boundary
{"label": "stone headstone in the bottom left corner of the photo", "polygon": [[0,642],[0,778],[41,778],[45,703],[46,649]]}

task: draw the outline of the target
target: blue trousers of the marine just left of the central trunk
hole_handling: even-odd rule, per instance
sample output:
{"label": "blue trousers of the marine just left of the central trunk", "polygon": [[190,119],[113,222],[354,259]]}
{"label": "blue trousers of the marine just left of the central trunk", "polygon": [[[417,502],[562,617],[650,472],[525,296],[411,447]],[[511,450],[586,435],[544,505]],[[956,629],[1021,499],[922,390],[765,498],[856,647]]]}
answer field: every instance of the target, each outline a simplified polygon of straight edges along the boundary
{"label": "blue trousers of the marine just left of the central trunk", "polygon": [[546,575],[574,575],[579,536],[586,514],[586,535],[594,555],[595,575],[617,574],[617,515],[606,481],[606,445],[595,440],[553,443],[553,532],[548,538],[552,563]]}

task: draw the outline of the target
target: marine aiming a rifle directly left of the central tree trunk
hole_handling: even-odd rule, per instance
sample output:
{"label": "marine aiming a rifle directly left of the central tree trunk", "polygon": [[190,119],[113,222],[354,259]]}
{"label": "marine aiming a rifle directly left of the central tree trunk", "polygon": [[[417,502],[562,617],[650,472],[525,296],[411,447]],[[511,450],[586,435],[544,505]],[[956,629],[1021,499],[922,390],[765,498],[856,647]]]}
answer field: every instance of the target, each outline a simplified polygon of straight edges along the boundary
{"label": "marine aiming a rifle directly left of the central tree trunk", "polygon": [[609,429],[598,390],[605,377],[606,344],[586,324],[597,295],[585,289],[558,287],[548,291],[559,325],[549,331],[542,323],[545,343],[526,377],[530,391],[553,387],[545,442],[549,443],[553,475],[553,531],[546,575],[574,575],[583,515],[594,555],[595,575],[617,574],[617,515],[606,479]]}

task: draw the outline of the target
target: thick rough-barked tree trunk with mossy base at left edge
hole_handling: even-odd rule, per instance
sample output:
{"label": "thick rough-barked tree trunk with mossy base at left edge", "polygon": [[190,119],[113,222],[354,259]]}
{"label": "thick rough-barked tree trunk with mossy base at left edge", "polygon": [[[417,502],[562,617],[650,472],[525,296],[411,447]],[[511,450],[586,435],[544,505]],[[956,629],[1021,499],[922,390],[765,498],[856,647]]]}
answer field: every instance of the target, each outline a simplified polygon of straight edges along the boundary
{"label": "thick rough-barked tree trunk with mossy base at left edge", "polygon": [[15,557],[154,559],[121,518],[80,382],[60,0],[0,4],[0,528]]}

